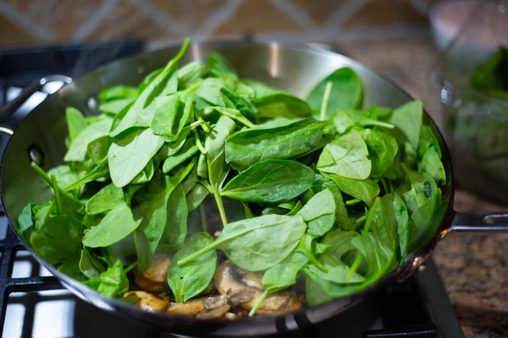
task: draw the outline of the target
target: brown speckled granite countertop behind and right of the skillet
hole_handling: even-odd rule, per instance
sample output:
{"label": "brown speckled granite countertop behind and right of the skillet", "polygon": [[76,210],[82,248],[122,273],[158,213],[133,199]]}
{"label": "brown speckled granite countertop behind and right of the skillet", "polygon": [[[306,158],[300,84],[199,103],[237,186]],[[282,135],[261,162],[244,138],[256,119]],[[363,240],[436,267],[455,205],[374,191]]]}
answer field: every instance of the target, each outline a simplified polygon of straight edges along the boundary
{"label": "brown speckled granite countertop behind and right of the skillet", "polygon": [[[438,57],[430,31],[406,38],[349,41],[338,47],[391,79],[442,126],[439,88],[430,81]],[[457,189],[459,212],[506,211],[498,205]],[[508,233],[453,233],[443,239],[432,257],[466,337],[508,336]]]}

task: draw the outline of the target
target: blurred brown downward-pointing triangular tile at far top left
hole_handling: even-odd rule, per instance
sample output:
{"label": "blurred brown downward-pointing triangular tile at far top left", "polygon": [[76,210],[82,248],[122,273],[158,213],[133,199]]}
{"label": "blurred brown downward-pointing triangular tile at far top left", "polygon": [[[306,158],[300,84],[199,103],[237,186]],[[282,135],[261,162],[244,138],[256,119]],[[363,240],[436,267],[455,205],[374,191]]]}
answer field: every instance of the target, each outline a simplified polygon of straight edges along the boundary
{"label": "blurred brown downward-pointing triangular tile at far top left", "polygon": [[11,0],[10,5],[29,21],[52,32],[56,40],[70,40],[104,0]]}

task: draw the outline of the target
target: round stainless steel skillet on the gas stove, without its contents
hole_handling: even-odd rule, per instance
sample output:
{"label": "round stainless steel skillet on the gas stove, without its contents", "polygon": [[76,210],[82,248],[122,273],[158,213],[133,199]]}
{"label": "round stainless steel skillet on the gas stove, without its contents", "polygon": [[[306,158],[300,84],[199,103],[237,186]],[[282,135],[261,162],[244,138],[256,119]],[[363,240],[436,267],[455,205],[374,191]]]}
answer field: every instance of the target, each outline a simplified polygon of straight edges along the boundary
{"label": "round stainless steel skillet on the gas stove, without its contents", "polygon": [[[362,64],[328,51],[295,49],[277,44],[208,43],[192,45],[182,64],[190,60],[204,62],[210,51],[225,55],[242,77],[267,82],[301,97],[304,97],[315,83],[338,67],[348,66],[362,78],[365,106],[376,104],[396,107],[411,100],[404,91],[366,69]],[[39,154],[37,161],[44,170],[62,162],[63,154],[66,152],[63,142],[67,136],[66,107],[76,107],[87,115],[97,114],[97,105],[94,103],[97,103],[96,95],[103,88],[116,84],[137,85],[149,72],[165,65],[176,52],[177,47],[172,47],[100,67],[50,95],[21,122],[9,140],[0,171],[2,202],[11,224],[16,224],[17,216],[28,202],[42,204],[51,197],[49,187],[30,167],[30,161],[34,159],[33,155],[37,152]],[[316,323],[344,311],[365,295],[387,283],[407,278],[418,269],[437,242],[450,232],[508,230],[508,214],[460,214],[453,210],[454,190],[450,156],[441,134],[427,114],[424,115],[424,123],[429,125],[436,134],[448,178],[446,185],[441,187],[443,202],[433,216],[432,226],[418,240],[419,245],[412,250],[403,266],[356,294],[319,307],[304,308],[278,317],[258,316],[236,321],[205,321],[166,314],[150,314],[127,303],[106,298],[89,289],[58,272],[27,247],[41,264],[80,298],[99,308],[174,333],[187,335],[207,333],[217,336],[260,335]],[[6,129],[0,129],[2,130],[8,132]],[[21,239],[21,236],[19,237]]]}

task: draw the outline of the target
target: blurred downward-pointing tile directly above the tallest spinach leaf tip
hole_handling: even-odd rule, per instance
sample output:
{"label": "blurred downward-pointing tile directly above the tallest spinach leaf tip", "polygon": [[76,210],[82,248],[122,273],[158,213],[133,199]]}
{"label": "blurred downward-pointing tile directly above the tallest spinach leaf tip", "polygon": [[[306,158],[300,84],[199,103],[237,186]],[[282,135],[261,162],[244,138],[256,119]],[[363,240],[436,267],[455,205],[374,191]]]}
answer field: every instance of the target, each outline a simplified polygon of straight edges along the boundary
{"label": "blurred downward-pointing tile directly above the tallest spinach leaf tip", "polygon": [[196,30],[226,0],[149,0],[156,8]]}

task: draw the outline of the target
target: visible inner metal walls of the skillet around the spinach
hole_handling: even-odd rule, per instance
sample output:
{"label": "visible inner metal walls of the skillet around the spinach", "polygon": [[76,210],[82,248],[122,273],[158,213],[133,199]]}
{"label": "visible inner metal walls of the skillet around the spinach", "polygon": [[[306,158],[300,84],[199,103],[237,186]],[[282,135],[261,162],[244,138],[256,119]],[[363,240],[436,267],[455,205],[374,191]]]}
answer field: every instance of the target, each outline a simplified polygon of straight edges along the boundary
{"label": "visible inner metal walls of the skillet around the spinach", "polygon": [[[97,104],[94,103],[97,103],[97,94],[102,89],[118,84],[138,85],[148,73],[164,66],[176,51],[177,47],[168,48],[103,66],[48,97],[23,120],[5,151],[0,174],[2,199],[11,222],[17,223],[17,216],[28,202],[43,204],[52,196],[48,185],[30,167],[29,152],[37,151],[41,154],[40,164],[45,171],[63,163],[63,154],[66,152],[64,140],[68,133],[65,121],[66,107],[73,106],[85,115],[98,114]],[[404,91],[358,62],[327,51],[293,49],[277,44],[210,43],[192,45],[182,64],[191,60],[204,62],[210,51],[223,54],[241,77],[266,82],[299,97],[305,97],[315,83],[338,67],[348,66],[362,79],[366,107],[374,104],[397,107],[412,99]],[[420,239],[420,247],[432,238],[440,226],[452,191],[447,148],[427,114],[424,114],[424,123],[432,128],[439,141],[448,183],[441,188],[443,203],[434,215],[432,228],[429,228]],[[88,288],[80,283],[74,283],[68,277],[56,272],[54,268],[51,271],[72,284],[72,287],[77,289],[75,292],[81,293],[82,296],[86,294],[84,297],[88,300],[96,302],[101,298],[98,295],[89,296],[91,292]]]}

